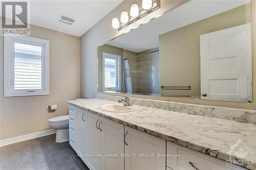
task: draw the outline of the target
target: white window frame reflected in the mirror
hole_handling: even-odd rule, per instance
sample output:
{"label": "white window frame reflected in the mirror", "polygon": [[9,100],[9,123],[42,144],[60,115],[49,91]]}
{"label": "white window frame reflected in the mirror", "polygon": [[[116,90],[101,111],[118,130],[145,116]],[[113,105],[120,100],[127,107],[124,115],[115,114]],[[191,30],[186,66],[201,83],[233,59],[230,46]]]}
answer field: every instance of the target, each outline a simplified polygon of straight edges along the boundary
{"label": "white window frame reflected in the mirror", "polygon": [[[110,59],[117,59],[117,84],[118,87],[115,88],[105,88],[105,58],[110,58]],[[104,89],[105,91],[121,91],[121,56],[120,55],[116,55],[116,54],[111,54],[111,53],[105,53],[102,52],[102,89]]]}

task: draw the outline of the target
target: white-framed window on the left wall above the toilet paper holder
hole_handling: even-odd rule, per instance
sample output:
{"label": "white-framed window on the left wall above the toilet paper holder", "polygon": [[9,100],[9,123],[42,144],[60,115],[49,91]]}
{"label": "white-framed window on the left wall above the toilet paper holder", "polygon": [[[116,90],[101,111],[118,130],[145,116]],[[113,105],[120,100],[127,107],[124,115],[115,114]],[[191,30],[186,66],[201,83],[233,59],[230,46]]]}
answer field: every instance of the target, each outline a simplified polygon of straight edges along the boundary
{"label": "white-framed window on the left wall above the toilet paper holder", "polygon": [[49,41],[4,37],[4,96],[49,95]]}

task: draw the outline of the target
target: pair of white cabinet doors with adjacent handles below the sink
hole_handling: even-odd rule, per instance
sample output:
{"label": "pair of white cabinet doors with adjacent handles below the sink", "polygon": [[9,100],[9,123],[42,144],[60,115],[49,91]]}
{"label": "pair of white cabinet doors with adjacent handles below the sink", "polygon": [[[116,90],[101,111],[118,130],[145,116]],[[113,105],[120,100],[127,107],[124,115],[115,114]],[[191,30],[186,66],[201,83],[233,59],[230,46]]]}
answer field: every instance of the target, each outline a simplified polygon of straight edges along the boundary
{"label": "pair of white cabinet doors with adjacent handles below the sink", "polygon": [[[88,112],[87,115],[87,148],[88,153],[93,155],[88,157],[87,165],[93,169],[123,169],[124,159],[122,157],[112,157],[124,151],[124,136],[122,124],[116,123],[107,118]],[[101,155],[99,155],[101,154]]]}

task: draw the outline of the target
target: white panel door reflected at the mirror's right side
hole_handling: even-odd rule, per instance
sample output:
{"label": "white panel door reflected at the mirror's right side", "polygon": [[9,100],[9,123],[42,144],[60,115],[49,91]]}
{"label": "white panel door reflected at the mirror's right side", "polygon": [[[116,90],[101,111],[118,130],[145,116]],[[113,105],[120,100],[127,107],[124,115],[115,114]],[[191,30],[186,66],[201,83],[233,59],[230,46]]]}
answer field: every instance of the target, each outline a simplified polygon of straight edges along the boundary
{"label": "white panel door reflected at the mirror's right side", "polygon": [[251,24],[201,35],[200,50],[201,99],[251,102]]}

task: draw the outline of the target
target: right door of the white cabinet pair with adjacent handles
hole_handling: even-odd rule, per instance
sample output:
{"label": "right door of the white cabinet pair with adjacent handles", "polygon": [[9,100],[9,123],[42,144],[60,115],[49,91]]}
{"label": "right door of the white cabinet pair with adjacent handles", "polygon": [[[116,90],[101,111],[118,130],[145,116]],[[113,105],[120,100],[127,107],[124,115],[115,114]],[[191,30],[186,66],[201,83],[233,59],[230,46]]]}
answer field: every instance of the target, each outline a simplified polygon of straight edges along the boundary
{"label": "right door of the white cabinet pair with adjacent handles", "polygon": [[[124,168],[123,131],[124,126],[107,118],[100,118],[100,153],[102,155],[111,154],[107,157],[101,157],[101,170],[121,170]],[[114,155],[117,154],[117,155]]]}

